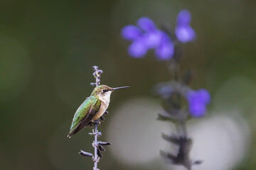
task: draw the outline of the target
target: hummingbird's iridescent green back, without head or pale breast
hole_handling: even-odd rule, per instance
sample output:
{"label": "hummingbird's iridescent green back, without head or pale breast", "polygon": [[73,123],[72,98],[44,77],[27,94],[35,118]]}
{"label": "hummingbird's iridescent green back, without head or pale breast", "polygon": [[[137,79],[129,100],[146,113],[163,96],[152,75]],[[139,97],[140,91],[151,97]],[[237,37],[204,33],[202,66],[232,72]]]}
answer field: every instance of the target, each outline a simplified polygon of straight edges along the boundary
{"label": "hummingbird's iridescent green back, without head or pale breast", "polygon": [[76,126],[79,125],[83,118],[85,118],[85,115],[87,115],[90,112],[90,109],[93,108],[94,110],[99,111],[99,101],[100,100],[98,96],[90,96],[86,98],[86,100],[80,105],[78,110],[75,112],[72,125],[70,126],[70,131],[75,130]]}

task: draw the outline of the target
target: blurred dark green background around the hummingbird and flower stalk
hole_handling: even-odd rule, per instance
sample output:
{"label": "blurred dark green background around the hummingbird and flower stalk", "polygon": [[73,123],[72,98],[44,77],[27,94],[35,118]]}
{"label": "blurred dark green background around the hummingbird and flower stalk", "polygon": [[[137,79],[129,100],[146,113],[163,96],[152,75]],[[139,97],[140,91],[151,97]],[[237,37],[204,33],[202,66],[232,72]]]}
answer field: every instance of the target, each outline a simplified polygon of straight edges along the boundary
{"label": "blurred dark green background around the hummingbird and flower stalk", "polygon": [[[0,169],[92,169],[91,159],[78,154],[80,149],[92,152],[92,137],[87,135],[90,129],[82,130],[70,140],[66,135],[75,110],[92,91],[90,82],[95,81],[92,77],[95,64],[104,71],[102,84],[132,86],[112,95],[110,115],[100,125],[101,140],[113,143],[106,147],[100,169],[176,169],[164,165],[158,154],[154,166],[146,158],[139,164],[136,160],[140,162],[147,155],[143,147],[136,149],[140,156],[134,154],[133,163],[125,164],[131,156],[125,157],[122,147],[115,149],[117,145],[111,137],[115,130],[118,142],[118,128],[122,128],[122,123],[119,126],[111,123],[119,107],[136,98],[147,98],[144,100],[158,107],[159,100],[152,95],[152,86],[171,78],[166,63],[156,62],[153,52],[141,60],[129,57],[129,42],[122,40],[120,30],[127,24],[135,24],[142,16],[149,16],[158,26],[167,23],[174,28],[176,15],[183,8],[192,13],[197,40],[184,46],[182,69],[194,69],[191,84],[194,89],[210,91],[213,102],[209,119],[214,115],[227,118],[234,115],[247,132],[247,136],[238,134],[237,138],[228,138],[232,138],[229,145],[234,146],[242,138],[245,148],[241,152],[230,149],[233,154],[243,154],[227,170],[256,169],[254,0],[0,1]],[[144,103],[141,109],[149,109],[146,106]],[[156,129],[156,137],[161,140],[161,130],[157,127],[164,123],[154,120],[157,109],[149,111],[152,111],[151,122],[144,121],[146,114],[139,117],[142,120],[136,120],[145,130]],[[192,124],[201,121],[205,119]],[[129,121],[131,127],[137,124],[135,120]],[[126,128],[124,133],[129,133],[129,126]],[[135,142],[140,140],[135,134],[124,136],[135,138]],[[128,144],[129,138],[124,140],[123,147],[129,147]],[[142,145],[146,146],[147,142]],[[154,148],[154,142],[146,147]],[[116,152],[123,154],[122,157]],[[214,164],[231,164],[225,159],[223,162]],[[215,170],[222,169],[215,167]]]}

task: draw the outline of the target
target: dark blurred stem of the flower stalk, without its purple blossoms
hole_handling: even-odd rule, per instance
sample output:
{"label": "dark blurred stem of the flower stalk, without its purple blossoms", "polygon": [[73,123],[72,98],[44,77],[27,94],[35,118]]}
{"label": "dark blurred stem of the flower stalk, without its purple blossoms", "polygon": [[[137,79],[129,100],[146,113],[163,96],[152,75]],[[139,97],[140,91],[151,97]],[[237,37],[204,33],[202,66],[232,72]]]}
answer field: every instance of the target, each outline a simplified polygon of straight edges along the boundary
{"label": "dark blurred stem of the flower stalk, without its purple blossoms", "polygon": [[[178,46],[178,45],[176,45]],[[176,47],[176,49],[178,49]],[[167,162],[176,165],[183,165],[186,169],[191,170],[193,164],[199,164],[200,161],[191,161],[189,154],[191,151],[192,140],[188,137],[186,129],[186,121],[188,113],[182,108],[183,94],[189,89],[184,83],[188,83],[191,80],[191,75],[188,72],[185,77],[179,77],[179,64],[181,60],[181,53],[177,52],[174,55],[174,60],[169,62],[169,70],[172,74],[174,81],[170,81],[168,84],[159,84],[156,86],[158,94],[164,99],[162,107],[163,113],[158,114],[158,120],[171,120],[177,126],[177,135],[162,134],[164,140],[173,143],[178,146],[178,154],[174,155],[168,152],[160,151],[160,154]]]}

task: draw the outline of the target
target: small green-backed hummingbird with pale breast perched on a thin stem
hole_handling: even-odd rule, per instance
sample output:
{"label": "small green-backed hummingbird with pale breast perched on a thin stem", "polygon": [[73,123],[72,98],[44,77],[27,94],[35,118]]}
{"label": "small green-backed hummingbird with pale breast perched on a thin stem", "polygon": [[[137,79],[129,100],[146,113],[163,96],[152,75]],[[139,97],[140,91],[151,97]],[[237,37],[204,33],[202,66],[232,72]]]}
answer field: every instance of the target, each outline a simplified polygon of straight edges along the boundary
{"label": "small green-backed hummingbird with pale breast perched on a thin stem", "polygon": [[129,86],[112,88],[107,85],[96,86],[92,94],[85,99],[75,112],[68,137],[76,134],[82,128],[91,127],[94,123],[99,123],[102,115],[107,113],[110,104],[110,95],[117,89],[124,89]]}

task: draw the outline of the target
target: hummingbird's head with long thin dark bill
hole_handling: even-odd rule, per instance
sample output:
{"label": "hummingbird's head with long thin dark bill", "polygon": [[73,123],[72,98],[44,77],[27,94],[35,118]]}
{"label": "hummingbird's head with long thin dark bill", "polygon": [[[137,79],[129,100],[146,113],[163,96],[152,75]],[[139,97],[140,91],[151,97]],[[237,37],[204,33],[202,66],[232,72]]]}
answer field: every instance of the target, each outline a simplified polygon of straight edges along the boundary
{"label": "hummingbird's head with long thin dark bill", "polygon": [[92,91],[92,96],[100,96],[102,98],[105,98],[105,97],[110,97],[110,94],[117,90],[117,89],[124,89],[124,88],[127,88],[129,86],[122,86],[122,87],[116,87],[116,88],[112,88],[110,86],[107,86],[107,85],[100,85],[100,86],[97,86],[95,87],[95,89]]}

